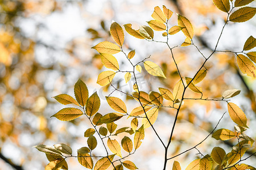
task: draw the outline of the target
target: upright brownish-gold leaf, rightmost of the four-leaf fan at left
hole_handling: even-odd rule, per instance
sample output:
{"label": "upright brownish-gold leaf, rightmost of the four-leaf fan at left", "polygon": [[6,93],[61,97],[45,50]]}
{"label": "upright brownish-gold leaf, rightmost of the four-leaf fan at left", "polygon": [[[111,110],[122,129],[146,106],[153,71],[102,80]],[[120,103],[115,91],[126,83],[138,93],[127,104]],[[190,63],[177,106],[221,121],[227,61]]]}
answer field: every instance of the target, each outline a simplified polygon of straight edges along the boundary
{"label": "upright brownish-gold leaf, rightmost of the four-leaf fan at left", "polygon": [[101,100],[100,97],[98,97],[97,92],[94,92],[92,96],[89,97],[86,103],[86,114],[88,116],[93,116],[98,112],[98,109],[100,109]]}

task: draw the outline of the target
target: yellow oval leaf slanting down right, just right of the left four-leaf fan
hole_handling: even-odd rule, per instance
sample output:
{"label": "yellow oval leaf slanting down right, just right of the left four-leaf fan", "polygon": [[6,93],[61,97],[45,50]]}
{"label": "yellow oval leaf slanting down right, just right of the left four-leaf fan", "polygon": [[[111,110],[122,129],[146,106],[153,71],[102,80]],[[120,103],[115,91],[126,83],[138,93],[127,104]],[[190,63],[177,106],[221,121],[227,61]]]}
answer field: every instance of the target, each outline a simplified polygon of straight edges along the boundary
{"label": "yellow oval leaf slanting down right, just right of the left four-leaf fan", "polygon": [[109,106],[117,112],[127,113],[125,103],[118,97],[106,97]]}

